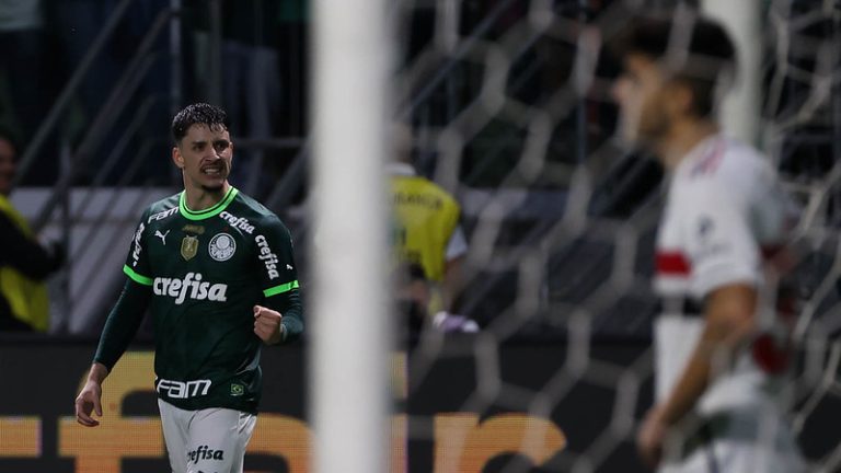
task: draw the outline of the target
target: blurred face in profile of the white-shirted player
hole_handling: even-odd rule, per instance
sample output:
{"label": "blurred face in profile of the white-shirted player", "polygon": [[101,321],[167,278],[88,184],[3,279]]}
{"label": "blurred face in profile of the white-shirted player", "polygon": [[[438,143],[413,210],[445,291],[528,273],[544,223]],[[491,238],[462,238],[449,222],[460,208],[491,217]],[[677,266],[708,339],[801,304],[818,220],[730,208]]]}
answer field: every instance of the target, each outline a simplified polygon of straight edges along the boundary
{"label": "blurred face in profile of the white-shirted player", "polygon": [[667,81],[654,60],[631,54],[613,85],[620,107],[620,138],[631,145],[650,145],[669,128]]}

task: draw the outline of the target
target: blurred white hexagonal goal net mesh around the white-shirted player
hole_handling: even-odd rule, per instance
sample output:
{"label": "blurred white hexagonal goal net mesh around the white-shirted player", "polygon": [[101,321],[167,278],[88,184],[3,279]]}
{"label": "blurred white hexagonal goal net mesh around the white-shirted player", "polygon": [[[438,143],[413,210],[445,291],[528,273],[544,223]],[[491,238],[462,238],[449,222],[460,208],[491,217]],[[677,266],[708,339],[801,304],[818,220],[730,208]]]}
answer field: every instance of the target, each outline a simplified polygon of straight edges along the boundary
{"label": "blurred white hexagonal goal net mesh around the white-shirted player", "polygon": [[[611,140],[618,66],[601,45],[629,11],[676,3],[401,2],[399,109],[415,166],[462,206],[458,309],[482,327],[424,331],[410,351],[418,471],[644,471],[633,438],[652,403],[661,172]],[[758,14],[761,148],[806,205],[792,419],[810,464],[834,471],[841,7],[765,1]]]}

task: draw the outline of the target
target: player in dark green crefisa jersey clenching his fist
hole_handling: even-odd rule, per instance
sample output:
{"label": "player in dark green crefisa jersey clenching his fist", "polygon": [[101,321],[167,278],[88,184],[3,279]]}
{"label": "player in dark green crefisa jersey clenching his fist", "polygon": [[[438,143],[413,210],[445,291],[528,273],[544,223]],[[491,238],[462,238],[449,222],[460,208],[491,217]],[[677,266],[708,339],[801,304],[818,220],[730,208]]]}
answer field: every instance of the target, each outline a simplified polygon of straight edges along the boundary
{"label": "player in dark green crefisa jersey clenching his fist", "polygon": [[303,331],[292,243],[277,216],[228,183],[233,143],[222,109],[189,105],[172,132],[184,191],[142,215],[76,416],[99,425],[92,413],[102,415],[102,382],[151,307],[172,471],[241,473],[260,401],[261,345]]}

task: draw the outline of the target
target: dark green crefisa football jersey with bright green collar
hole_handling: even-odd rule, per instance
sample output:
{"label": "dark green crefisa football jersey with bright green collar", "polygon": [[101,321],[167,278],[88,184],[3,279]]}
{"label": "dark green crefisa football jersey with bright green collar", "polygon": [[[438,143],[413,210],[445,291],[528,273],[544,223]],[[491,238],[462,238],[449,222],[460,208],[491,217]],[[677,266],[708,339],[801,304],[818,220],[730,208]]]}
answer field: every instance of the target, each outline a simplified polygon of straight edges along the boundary
{"label": "dark green crefisa football jersey with bright green collar", "polygon": [[280,219],[234,187],[201,211],[182,192],[143,212],[124,272],[152,290],[158,395],[185,409],[255,412],[263,342],[253,307],[277,309],[267,300],[298,288]]}

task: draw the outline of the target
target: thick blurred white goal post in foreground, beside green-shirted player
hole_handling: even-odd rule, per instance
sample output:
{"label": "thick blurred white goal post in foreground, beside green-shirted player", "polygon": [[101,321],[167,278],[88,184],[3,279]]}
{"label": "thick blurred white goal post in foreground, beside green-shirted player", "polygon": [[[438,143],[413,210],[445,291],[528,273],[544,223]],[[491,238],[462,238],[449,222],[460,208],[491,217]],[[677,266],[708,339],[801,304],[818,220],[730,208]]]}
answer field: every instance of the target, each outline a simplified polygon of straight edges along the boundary
{"label": "thick blurred white goal post in foreground, beside green-shirted player", "polygon": [[314,471],[384,472],[389,452],[384,0],[313,7],[311,418]]}

